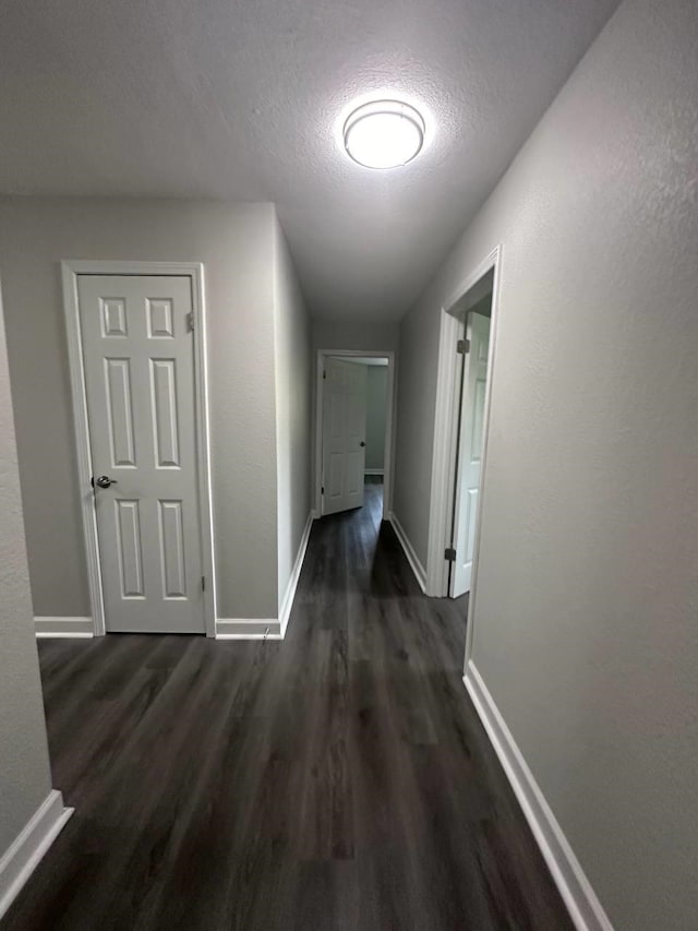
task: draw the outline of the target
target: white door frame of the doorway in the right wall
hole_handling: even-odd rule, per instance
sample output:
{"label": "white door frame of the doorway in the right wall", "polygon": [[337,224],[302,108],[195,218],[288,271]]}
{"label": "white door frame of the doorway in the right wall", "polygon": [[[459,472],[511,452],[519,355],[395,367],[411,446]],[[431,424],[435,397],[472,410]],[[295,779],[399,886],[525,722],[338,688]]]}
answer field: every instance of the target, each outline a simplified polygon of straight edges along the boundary
{"label": "white door frame of the doorway in the right wall", "polygon": [[467,275],[462,284],[441,310],[441,335],[438,341],[438,369],[436,381],[436,409],[434,418],[434,452],[432,458],[432,485],[430,496],[429,545],[426,556],[426,594],[436,598],[448,596],[448,562],[444,550],[450,546],[450,515],[455,491],[456,455],[458,451],[458,379],[457,343],[462,321],[459,303],[488,272],[494,270],[492,286],[492,320],[490,323],[490,355],[484,399],[482,472],[478,496],[477,530],[472,560],[472,584],[468,600],[468,628],[466,631],[466,665],[472,649],[472,618],[478,584],[478,559],[480,552],[480,528],[484,484],[486,480],[490,407],[492,398],[492,374],[496,353],[498,326],[500,283],[502,278],[502,247],[497,246]]}

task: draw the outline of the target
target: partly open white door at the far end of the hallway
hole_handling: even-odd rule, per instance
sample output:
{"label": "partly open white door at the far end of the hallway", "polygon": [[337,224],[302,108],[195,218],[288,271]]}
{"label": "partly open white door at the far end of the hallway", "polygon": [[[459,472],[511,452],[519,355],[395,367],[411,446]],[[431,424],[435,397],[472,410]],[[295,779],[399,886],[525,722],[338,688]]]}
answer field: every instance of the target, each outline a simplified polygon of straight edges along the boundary
{"label": "partly open white door at the far end of the hallway", "polygon": [[327,358],[323,386],[323,514],[335,514],[363,506],[366,367]]}

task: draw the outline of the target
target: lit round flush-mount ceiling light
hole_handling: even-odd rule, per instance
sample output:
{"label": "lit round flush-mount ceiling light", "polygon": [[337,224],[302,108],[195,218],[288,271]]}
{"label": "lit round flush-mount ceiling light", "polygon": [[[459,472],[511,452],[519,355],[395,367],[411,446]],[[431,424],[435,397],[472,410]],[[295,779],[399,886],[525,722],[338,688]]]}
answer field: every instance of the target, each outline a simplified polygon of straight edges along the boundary
{"label": "lit round flush-mount ceiling light", "polygon": [[366,168],[407,165],[424,145],[424,119],[399,100],[375,100],[356,109],[345,123],[347,152]]}

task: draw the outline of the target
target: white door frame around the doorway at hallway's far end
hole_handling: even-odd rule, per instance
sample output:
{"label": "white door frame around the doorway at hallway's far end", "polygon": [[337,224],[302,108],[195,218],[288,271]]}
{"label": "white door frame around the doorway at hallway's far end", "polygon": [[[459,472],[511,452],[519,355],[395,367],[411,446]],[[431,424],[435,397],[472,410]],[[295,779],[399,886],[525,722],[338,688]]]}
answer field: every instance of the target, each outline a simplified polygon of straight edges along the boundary
{"label": "white door frame around the doorway at hallway's far end", "polygon": [[388,360],[388,385],[386,395],[385,413],[385,454],[383,459],[383,520],[387,521],[393,503],[393,449],[395,423],[395,405],[397,401],[397,383],[395,380],[395,353],[386,349],[318,349],[317,363],[315,368],[315,493],[314,515],[321,517],[323,513],[322,484],[323,484],[323,371],[327,356],[351,359],[387,359]]}

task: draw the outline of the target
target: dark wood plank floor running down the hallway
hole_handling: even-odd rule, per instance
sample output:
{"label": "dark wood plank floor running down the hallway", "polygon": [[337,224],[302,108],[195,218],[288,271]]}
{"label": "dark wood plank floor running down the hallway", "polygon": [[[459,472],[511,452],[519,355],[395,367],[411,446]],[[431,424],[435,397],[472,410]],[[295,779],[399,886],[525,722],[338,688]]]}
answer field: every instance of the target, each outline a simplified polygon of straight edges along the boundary
{"label": "dark wood plank floor running down the hallway", "polygon": [[43,641],[75,814],[1,927],[571,929],[382,487],[315,523],[284,643]]}

